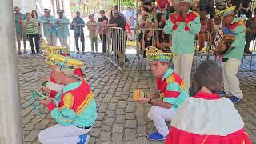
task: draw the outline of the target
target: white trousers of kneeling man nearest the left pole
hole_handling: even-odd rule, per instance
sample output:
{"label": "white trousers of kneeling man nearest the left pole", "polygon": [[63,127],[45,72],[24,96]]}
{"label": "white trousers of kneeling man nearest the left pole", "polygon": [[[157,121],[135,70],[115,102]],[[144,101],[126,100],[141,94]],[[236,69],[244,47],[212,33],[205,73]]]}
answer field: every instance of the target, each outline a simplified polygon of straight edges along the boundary
{"label": "white trousers of kneeling man nearest the left pole", "polygon": [[90,129],[81,129],[74,125],[54,125],[38,134],[39,142],[42,144],[77,144],[79,135],[89,133]]}

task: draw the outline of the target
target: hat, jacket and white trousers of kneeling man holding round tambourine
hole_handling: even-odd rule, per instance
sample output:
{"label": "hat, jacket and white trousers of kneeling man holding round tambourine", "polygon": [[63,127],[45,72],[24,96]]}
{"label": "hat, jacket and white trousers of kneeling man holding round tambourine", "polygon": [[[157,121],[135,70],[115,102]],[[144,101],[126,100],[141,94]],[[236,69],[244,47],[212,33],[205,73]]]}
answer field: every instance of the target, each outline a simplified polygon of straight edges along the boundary
{"label": "hat, jacket and white trousers of kneeling man holding round tambourine", "polygon": [[[151,61],[170,62],[172,58],[170,53],[162,53],[162,51],[153,47],[148,48],[146,54],[147,58],[150,58]],[[182,78],[180,78],[178,74],[175,74],[172,68],[169,68],[162,78],[157,78],[157,91],[162,101],[169,103],[171,108],[166,109],[159,106],[152,106],[148,117],[153,120],[158,134],[166,137],[169,133],[166,121],[170,121],[174,118],[178,106],[186,100],[189,94],[185,89]]]}

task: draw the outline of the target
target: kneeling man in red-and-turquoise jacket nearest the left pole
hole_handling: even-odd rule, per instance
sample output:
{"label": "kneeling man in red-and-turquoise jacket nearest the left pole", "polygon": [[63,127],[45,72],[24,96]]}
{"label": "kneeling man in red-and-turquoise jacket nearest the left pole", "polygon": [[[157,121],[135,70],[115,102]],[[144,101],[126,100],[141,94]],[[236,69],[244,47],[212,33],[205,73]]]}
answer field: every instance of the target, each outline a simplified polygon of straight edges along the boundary
{"label": "kneeling man in red-and-turquoise jacket nearest the left pole", "polygon": [[[39,142],[44,143],[87,143],[90,136],[87,133],[94,126],[97,118],[96,102],[90,86],[83,78],[73,75],[77,60],[64,59],[49,55],[54,66],[53,78],[58,84],[64,85],[58,93],[46,90],[50,94],[42,104],[50,110],[51,117],[58,123],[39,135]],[[57,102],[58,105],[55,103]]]}

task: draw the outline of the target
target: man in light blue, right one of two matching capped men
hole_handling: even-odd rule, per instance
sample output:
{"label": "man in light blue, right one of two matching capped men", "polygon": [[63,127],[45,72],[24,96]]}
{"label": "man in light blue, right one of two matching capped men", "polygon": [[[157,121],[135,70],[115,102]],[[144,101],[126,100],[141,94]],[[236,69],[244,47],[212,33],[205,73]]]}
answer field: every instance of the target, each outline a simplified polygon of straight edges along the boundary
{"label": "man in light blue, right one of two matching capped men", "polygon": [[58,26],[58,38],[61,45],[69,48],[67,44],[67,38],[70,35],[69,26],[70,20],[63,16],[64,10],[57,10],[58,18],[57,18],[57,26]]}

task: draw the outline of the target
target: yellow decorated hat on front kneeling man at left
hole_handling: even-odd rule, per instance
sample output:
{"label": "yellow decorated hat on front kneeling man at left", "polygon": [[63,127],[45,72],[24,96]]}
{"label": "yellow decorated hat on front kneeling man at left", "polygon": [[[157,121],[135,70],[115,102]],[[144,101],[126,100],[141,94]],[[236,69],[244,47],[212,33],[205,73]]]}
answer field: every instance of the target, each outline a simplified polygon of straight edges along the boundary
{"label": "yellow decorated hat on front kneeling man at left", "polygon": [[79,61],[77,59],[70,58],[70,57],[64,57],[59,54],[53,54],[53,53],[47,54],[46,63],[49,65],[61,66],[61,69],[62,68],[74,69],[74,68],[80,68],[83,66],[82,61]]}

